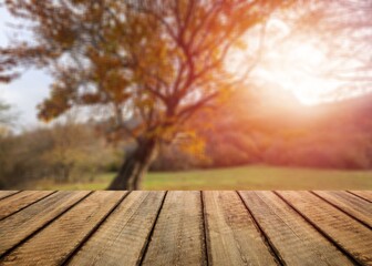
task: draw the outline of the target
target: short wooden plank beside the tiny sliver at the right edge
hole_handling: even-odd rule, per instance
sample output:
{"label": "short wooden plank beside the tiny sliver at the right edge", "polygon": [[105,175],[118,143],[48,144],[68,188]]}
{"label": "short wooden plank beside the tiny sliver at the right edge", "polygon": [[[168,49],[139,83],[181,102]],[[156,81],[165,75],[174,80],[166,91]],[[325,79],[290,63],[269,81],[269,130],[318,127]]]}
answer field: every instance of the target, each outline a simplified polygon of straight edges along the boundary
{"label": "short wooden plank beside the tiny sliver at the right edge", "polygon": [[317,195],[350,214],[363,224],[372,228],[372,203],[363,201],[351,193],[340,191],[316,191]]}

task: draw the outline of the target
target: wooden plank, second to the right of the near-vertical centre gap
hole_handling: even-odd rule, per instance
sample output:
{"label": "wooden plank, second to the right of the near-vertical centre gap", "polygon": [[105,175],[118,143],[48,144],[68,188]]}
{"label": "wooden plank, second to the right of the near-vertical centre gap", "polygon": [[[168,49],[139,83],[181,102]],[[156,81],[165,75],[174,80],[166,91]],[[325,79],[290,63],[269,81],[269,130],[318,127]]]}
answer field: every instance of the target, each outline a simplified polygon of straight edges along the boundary
{"label": "wooden plank, second to the right of the near-vertical centre gap", "polygon": [[239,192],[285,265],[354,265],[272,192]]}

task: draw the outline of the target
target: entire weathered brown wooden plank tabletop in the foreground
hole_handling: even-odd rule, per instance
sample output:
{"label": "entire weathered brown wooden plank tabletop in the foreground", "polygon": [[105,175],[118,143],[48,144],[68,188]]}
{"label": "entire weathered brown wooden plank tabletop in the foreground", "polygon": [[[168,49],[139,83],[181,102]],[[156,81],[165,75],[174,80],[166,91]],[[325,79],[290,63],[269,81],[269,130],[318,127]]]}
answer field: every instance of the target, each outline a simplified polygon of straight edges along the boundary
{"label": "entire weathered brown wooden plank tabletop in the foreground", "polygon": [[372,265],[372,192],[0,192],[0,265]]}

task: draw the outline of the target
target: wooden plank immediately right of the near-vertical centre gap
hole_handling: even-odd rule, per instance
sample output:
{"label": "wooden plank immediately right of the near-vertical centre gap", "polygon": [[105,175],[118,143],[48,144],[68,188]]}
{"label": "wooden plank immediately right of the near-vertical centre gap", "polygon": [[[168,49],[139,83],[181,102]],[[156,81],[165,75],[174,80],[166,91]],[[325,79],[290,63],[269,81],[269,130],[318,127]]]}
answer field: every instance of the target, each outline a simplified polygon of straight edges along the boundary
{"label": "wooden plank immediately right of the near-vertical centre gap", "polygon": [[203,192],[203,198],[209,264],[277,265],[236,192]]}

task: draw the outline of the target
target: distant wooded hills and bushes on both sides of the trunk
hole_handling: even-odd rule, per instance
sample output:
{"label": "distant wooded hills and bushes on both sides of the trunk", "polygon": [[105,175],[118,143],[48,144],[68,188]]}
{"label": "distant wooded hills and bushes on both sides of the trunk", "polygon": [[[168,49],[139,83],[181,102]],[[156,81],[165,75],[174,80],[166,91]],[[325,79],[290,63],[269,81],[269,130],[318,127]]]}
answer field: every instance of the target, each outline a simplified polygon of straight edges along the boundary
{"label": "distant wooded hills and bushes on both sides of the trunk", "polygon": [[[204,140],[204,152],[185,152],[187,139],[176,140],[161,146],[151,171],[256,163],[372,168],[371,96],[307,108],[287,94],[266,93],[238,90],[223,108],[195,116],[190,129]],[[82,182],[117,172],[131,146],[107,143],[93,123],[0,134],[0,188],[41,180]]]}

